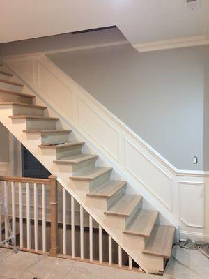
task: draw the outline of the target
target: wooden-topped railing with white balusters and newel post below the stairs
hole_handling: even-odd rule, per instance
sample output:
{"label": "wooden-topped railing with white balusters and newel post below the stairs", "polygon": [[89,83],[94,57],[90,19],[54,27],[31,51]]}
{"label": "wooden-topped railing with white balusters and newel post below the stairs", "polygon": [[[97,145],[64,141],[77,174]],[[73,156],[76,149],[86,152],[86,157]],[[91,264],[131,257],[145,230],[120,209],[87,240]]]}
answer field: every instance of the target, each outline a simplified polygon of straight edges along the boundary
{"label": "wooden-topped railing with white balusters and newel post below the stairs", "polygon": [[[142,271],[56,181],[0,176],[0,194],[19,250]],[[0,239],[8,227],[0,212]],[[4,235],[3,235],[4,234]],[[10,248],[8,243],[7,248]]]}

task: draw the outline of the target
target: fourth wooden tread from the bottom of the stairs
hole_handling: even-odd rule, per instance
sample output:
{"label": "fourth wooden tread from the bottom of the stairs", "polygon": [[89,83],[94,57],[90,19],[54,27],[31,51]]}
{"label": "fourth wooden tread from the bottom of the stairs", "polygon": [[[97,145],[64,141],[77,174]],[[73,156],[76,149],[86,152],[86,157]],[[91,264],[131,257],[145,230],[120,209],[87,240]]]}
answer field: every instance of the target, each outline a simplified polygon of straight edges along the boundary
{"label": "fourth wooden tread from the bottom of the stairs", "polygon": [[110,180],[102,184],[102,186],[96,188],[91,193],[88,193],[88,197],[103,197],[109,198],[114,195],[119,189],[127,184],[126,181],[114,181]]}

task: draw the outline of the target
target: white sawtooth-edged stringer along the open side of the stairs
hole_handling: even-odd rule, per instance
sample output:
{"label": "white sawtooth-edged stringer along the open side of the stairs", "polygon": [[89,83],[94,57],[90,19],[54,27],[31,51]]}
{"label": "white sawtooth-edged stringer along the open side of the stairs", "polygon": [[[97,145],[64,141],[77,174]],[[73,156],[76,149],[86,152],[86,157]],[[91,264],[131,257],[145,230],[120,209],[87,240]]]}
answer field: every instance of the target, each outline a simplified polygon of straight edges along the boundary
{"label": "white sawtooth-edged stringer along the open side of the stairs", "polygon": [[[8,89],[8,84],[6,86]],[[90,179],[77,179],[72,180],[70,177],[75,176],[72,172],[70,173],[66,169],[66,165],[59,165],[54,163],[58,160],[57,158],[57,148],[54,146],[47,146],[47,148],[42,148],[42,136],[41,133],[25,133],[31,126],[27,121],[28,119],[24,117],[11,118],[13,116],[13,105],[12,104],[1,104],[0,106],[0,121],[4,126],[12,133],[17,140],[19,140],[26,148],[33,153],[42,165],[44,165],[49,172],[57,176],[57,180],[66,190],[72,195],[79,204],[81,204],[84,209],[100,224],[101,227],[118,243],[125,252],[132,259],[134,259],[137,264],[148,273],[155,273],[158,271],[164,271],[164,257],[159,257],[156,255],[145,254],[143,250],[146,248],[146,238],[144,236],[136,236],[130,234],[124,234],[123,231],[126,229],[124,225],[124,220],[121,216],[108,216],[104,214],[107,211],[107,198],[98,199],[97,197],[88,197],[90,187],[95,187],[90,185]],[[53,119],[54,120],[54,119]],[[33,125],[33,123],[31,124]],[[37,126],[35,127],[36,129]],[[42,124],[41,124],[42,129]],[[44,128],[45,129],[45,126]],[[50,126],[51,129],[51,126]],[[61,147],[62,148],[62,147]],[[77,152],[77,151],[75,151]],[[104,179],[107,179],[107,177]],[[98,182],[99,183],[99,182]],[[97,187],[97,186],[96,186]],[[117,201],[116,201],[117,202]],[[139,210],[139,204],[137,204],[133,211],[133,216],[137,214]]]}

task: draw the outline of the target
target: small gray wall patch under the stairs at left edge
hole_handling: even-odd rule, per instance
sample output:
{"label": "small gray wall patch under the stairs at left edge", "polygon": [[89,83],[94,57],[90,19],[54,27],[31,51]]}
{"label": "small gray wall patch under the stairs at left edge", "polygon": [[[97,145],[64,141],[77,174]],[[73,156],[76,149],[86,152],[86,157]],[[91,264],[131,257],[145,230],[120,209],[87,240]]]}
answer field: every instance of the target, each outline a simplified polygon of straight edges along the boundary
{"label": "small gray wall patch under the stairs at left edge", "polygon": [[9,161],[9,133],[0,123],[0,162]]}

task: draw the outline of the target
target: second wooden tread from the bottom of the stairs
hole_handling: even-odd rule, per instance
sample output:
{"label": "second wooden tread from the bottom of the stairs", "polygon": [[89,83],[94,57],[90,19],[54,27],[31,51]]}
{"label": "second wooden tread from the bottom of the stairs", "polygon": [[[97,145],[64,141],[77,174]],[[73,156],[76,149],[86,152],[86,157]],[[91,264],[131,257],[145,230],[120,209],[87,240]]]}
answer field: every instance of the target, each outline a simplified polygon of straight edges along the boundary
{"label": "second wooden tread from the bottom of the stairs", "polygon": [[152,232],[157,216],[157,211],[141,209],[138,216],[132,220],[123,233],[148,237]]}

